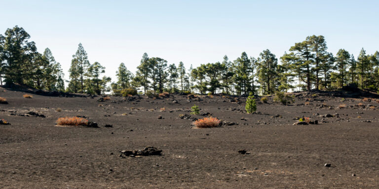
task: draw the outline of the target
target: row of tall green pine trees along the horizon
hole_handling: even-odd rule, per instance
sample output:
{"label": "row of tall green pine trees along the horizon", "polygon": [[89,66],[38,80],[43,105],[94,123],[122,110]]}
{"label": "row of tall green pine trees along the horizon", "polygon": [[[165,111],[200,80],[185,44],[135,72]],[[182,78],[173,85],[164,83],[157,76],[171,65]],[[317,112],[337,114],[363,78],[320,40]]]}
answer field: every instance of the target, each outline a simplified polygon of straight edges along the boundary
{"label": "row of tall green pine trees along the horizon", "polygon": [[[164,91],[267,95],[275,91],[334,90],[345,86],[378,90],[379,52],[366,54],[362,48],[357,59],[345,49],[336,55],[327,51],[324,36],[308,36],[295,43],[279,58],[268,49],[259,57],[248,57],[243,52],[239,58],[229,61],[201,64],[186,69],[184,63],[168,64],[158,57],[142,56],[133,74],[124,63],[116,71],[117,81],[101,77],[105,67],[90,63],[82,44],[73,55],[69,80],[64,80],[61,64],[56,62],[46,48],[38,53],[30,35],[19,27],[8,29],[0,35],[0,82],[7,86],[15,83],[50,91],[104,94],[127,88],[161,93]],[[65,88],[65,82],[68,83]]]}

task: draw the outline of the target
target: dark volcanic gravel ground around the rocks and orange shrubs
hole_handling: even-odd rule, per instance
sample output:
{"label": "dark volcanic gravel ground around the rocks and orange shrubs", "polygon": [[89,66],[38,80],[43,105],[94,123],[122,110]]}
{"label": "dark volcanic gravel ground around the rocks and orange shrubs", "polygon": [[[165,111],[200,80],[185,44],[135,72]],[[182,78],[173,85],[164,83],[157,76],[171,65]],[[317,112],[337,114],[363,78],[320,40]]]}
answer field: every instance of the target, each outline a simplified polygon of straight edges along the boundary
{"label": "dark volcanic gravel ground around the rocks and orange shrubs", "polygon": [[[257,104],[259,113],[246,114],[244,97],[112,96],[98,102],[90,96],[23,94],[0,88],[9,102],[0,104],[0,119],[11,124],[0,125],[2,189],[379,186],[379,103],[362,96],[303,92],[287,106],[268,97],[267,104]],[[178,117],[189,115],[193,104],[236,125],[192,128],[190,119],[204,116]],[[100,128],[55,126],[65,116],[88,117]],[[319,124],[293,125],[302,116]],[[119,157],[120,151],[146,146],[159,148],[162,156]]]}

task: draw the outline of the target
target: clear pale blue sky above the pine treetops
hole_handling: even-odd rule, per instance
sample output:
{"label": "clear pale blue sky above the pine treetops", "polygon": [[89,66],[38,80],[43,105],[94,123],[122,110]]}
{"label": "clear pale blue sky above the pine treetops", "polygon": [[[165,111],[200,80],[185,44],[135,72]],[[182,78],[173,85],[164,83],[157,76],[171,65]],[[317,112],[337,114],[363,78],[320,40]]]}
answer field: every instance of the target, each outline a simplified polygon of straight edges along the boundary
{"label": "clear pale blue sky above the pine treetops", "polygon": [[144,52],[190,64],[277,58],[308,35],[324,35],[328,51],[355,57],[379,50],[378,0],[0,0],[0,33],[23,27],[39,52],[51,49],[68,79],[79,42],[91,63],[115,81],[119,63],[135,71]]}

